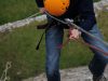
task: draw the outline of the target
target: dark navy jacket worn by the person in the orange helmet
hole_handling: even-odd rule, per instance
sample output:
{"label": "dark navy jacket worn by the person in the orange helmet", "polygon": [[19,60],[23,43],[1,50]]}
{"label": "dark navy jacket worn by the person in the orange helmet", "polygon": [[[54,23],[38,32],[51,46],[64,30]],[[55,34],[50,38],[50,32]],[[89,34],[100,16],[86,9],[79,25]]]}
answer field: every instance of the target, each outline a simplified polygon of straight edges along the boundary
{"label": "dark navy jacket worn by the person in the orange helmet", "polygon": [[[39,8],[43,6],[43,0],[36,0]],[[91,28],[96,24],[96,18],[94,14],[93,0],[70,0],[70,5],[67,12],[59,16],[58,18],[79,18],[77,25],[85,30],[91,30]]]}

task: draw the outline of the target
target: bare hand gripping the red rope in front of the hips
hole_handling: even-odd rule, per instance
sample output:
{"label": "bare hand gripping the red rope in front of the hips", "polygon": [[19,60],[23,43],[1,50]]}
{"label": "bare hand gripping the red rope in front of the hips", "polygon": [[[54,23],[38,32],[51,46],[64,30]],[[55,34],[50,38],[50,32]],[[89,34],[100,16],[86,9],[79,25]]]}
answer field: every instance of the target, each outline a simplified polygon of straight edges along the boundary
{"label": "bare hand gripping the red rope in front of the hips", "polygon": [[79,39],[81,36],[81,31],[79,31],[78,29],[69,29],[69,39]]}

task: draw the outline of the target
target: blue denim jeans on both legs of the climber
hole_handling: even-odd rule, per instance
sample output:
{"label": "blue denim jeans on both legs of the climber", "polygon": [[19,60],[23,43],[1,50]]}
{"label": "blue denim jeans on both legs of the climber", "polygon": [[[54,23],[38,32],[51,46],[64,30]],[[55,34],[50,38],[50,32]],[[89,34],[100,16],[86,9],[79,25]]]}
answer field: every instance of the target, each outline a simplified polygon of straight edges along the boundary
{"label": "blue denim jeans on both legs of the climber", "polygon": [[[90,33],[103,39],[96,25],[89,31]],[[60,49],[58,45],[63,43],[64,28],[58,26],[52,26],[45,33],[45,46],[46,46],[46,78],[48,81],[60,81],[59,75],[59,56]],[[85,42],[98,46],[103,51],[108,53],[108,46],[104,45],[102,42],[82,33],[82,38]],[[108,56],[103,53],[91,49],[94,53],[94,57],[91,60],[89,68],[91,72],[95,76],[100,76],[104,73],[105,67],[108,62]]]}

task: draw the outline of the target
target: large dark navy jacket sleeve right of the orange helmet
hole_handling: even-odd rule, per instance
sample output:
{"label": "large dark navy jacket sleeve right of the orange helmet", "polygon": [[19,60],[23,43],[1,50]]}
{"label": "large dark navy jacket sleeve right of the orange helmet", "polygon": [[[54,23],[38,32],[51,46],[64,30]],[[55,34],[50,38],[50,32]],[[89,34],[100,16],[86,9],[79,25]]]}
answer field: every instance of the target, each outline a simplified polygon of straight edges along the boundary
{"label": "large dark navy jacket sleeve right of the orange helmet", "polygon": [[81,0],[78,5],[78,11],[80,16],[80,22],[78,23],[80,27],[84,30],[91,30],[96,24],[93,0]]}

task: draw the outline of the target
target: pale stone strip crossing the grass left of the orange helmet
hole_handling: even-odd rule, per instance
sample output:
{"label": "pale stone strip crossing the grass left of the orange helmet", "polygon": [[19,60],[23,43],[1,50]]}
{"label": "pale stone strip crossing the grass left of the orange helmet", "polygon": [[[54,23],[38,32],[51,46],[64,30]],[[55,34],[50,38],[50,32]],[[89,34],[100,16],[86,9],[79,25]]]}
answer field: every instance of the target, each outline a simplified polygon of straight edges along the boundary
{"label": "pale stone strip crossing the grass left of the orange helmet", "polygon": [[22,19],[22,21],[13,22],[13,23],[8,23],[8,24],[0,26],[0,31],[1,32],[4,32],[5,30],[11,31],[13,28],[23,27],[25,25],[29,25],[30,23],[32,23],[35,21],[42,22],[44,19],[46,19],[46,15],[41,15],[41,16],[38,16],[38,17],[25,18],[25,19]]}

